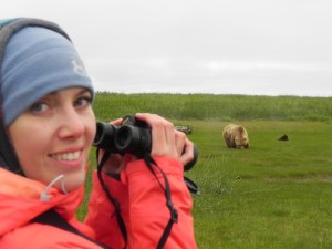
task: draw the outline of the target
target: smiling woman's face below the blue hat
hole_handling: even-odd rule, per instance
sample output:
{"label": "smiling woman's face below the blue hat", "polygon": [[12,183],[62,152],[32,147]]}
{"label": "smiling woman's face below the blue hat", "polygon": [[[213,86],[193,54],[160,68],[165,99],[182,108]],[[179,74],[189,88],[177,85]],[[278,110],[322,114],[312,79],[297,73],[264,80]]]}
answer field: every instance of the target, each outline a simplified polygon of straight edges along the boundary
{"label": "smiling woman's face below the blue hat", "polygon": [[61,90],[35,102],[9,126],[28,178],[49,184],[63,174],[66,191],[84,184],[96,126],[91,100],[83,87]]}

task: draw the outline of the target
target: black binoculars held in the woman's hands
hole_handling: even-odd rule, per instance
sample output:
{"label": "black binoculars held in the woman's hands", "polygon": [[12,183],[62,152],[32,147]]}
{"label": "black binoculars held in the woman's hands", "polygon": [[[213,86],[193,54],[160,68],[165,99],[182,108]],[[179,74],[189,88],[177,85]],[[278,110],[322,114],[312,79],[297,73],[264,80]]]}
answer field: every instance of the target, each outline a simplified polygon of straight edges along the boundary
{"label": "black binoculars held in the woman's hands", "polygon": [[[131,153],[143,157],[152,149],[151,128],[133,115],[124,116],[120,126],[97,122],[93,146],[113,153]],[[185,170],[189,170],[196,164],[197,157],[198,149],[194,145],[194,159],[185,165]]]}

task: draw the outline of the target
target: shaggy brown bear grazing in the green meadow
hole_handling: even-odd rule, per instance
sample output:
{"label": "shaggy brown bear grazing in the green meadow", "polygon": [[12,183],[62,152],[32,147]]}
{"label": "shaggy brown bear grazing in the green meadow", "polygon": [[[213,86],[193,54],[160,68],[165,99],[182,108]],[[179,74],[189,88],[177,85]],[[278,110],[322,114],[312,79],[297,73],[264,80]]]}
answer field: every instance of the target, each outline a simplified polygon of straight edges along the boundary
{"label": "shaggy brown bear grazing in the green meadow", "polygon": [[249,148],[248,133],[242,125],[226,125],[222,129],[222,136],[229,148]]}

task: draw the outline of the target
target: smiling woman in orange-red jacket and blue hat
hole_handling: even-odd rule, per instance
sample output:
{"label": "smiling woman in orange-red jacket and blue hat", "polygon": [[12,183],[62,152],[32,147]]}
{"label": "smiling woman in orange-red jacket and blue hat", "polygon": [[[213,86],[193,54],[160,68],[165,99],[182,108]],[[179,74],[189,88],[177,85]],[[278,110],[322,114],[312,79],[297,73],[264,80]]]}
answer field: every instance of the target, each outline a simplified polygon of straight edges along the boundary
{"label": "smiling woman in orange-red jacket and blue hat", "polygon": [[155,114],[136,114],[152,129],[149,157],[105,157],[89,214],[76,220],[96,132],[94,90],[59,27],[15,21],[25,24],[6,40],[0,71],[0,248],[196,248],[183,178],[193,143]]}

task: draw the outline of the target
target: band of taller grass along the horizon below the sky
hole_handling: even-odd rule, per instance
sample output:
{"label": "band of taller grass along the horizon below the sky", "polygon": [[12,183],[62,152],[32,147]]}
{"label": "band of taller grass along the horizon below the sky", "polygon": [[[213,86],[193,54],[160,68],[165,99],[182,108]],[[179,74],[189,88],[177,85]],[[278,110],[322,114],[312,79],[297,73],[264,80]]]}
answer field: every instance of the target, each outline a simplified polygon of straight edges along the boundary
{"label": "band of taller grass along the horizon below the sky", "polygon": [[331,121],[332,97],[97,93],[97,117],[152,112],[184,120]]}

